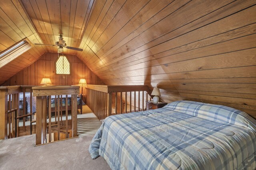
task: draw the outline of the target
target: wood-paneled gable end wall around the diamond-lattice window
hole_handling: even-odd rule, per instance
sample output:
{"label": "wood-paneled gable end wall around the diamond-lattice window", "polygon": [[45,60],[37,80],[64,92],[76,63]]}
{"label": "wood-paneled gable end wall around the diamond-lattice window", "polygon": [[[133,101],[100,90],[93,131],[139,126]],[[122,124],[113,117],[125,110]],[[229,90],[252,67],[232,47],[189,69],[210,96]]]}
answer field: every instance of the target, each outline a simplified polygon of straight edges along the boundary
{"label": "wood-paneled gable end wall around the diamond-lattice window", "polygon": [[[76,55],[66,55],[71,66],[70,75],[56,75],[55,61],[58,53],[46,53],[37,61],[24,68],[18,74],[6,81],[6,86],[32,85],[41,86],[42,78],[50,78],[54,86],[78,85],[80,78],[85,78],[87,84],[104,84]],[[80,88],[81,92],[81,88]],[[86,93],[85,87],[83,94]]]}

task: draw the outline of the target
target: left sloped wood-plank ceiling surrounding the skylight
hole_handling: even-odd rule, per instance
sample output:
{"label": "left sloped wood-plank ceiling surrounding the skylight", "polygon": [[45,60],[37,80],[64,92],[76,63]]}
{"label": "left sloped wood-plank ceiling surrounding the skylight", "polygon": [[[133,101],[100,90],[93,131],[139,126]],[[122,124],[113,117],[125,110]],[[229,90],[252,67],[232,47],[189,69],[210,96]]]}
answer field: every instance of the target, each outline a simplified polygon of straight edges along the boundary
{"label": "left sloped wood-plank ceiling surrounding the skylight", "polygon": [[[30,18],[26,15],[18,0],[1,1],[0,37],[0,52],[26,37],[31,43],[42,43],[30,22]],[[37,46],[30,48],[25,53],[20,53],[20,56],[0,68],[0,84],[36,61],[46,52],[45,47]]]}

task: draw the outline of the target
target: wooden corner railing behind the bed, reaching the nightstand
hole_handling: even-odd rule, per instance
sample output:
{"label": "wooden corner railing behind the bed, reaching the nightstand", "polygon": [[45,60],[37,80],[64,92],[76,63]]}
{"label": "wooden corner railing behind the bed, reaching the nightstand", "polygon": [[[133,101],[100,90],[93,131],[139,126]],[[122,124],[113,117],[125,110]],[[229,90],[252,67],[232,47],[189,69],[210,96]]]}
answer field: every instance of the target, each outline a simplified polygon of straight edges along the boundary
{"label": "wooden corner railing behind the bed, reaching the nightstand", "polygon": [[145,102],[150,100],[150,89],[146,85],[105,86],[86,85],[87,105],[104,121],[113,114],[146,110]]}

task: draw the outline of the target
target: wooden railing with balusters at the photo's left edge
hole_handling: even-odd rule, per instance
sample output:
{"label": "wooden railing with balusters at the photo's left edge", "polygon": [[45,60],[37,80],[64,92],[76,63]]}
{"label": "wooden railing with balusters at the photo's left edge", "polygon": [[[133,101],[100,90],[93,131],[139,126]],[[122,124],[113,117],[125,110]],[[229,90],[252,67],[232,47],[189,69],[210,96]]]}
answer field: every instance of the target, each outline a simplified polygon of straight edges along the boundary
{"label": "wooden railing with balusters at the photo's left edge", "polygon": [[[32,113],[26,108],[25,92],[30,92],[32,110],[32,86],[0,86],[0,139],[32,134]],[[23,93],[23,107],[20,106],[20,93]],[[26,132],[25,118],[30,117],[30,130]],[[20,119],[23,119],[20,125]],[[16,135],[15,135],[16,133]]]}

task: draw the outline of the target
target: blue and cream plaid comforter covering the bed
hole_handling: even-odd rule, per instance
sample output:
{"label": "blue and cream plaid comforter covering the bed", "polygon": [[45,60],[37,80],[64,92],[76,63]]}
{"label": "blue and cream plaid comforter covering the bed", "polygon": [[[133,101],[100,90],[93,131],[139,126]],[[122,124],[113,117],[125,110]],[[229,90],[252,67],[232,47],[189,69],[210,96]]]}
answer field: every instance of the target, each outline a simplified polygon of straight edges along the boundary
{"label": "blue and cream plaid comforter covering the bed", "polygon": [[107,117],[89,151],[116,170],[253,170],[256,121],[226,106],[172,102]]}

